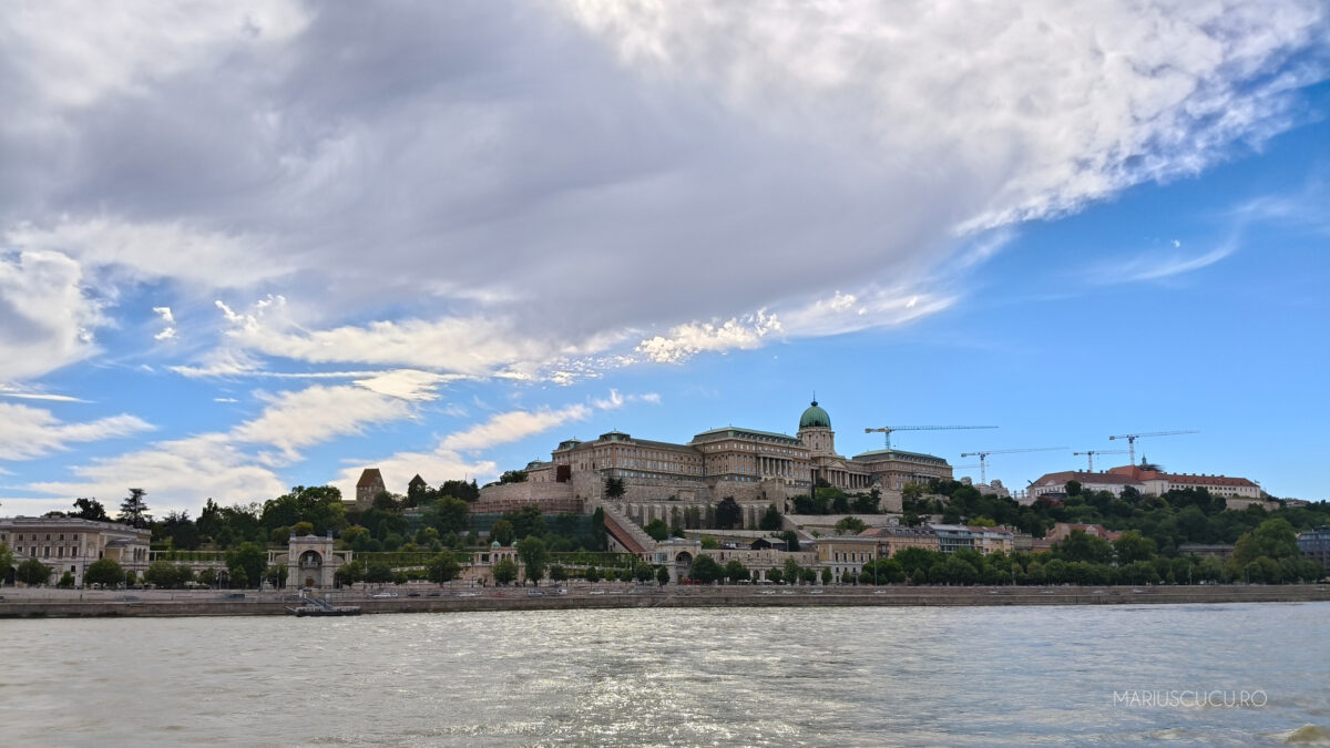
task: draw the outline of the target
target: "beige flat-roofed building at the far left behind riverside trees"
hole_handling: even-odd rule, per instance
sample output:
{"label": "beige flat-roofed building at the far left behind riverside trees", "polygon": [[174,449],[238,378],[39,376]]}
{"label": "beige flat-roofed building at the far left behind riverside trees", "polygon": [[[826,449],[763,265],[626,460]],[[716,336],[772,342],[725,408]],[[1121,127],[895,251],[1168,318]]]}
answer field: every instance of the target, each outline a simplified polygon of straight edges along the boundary
{"label": "beige flat-roofed building at the far left behind riverside trees", "polygon": [[84,571],[98,559],[112,559],[126,571],[148,568],[152,532],[74,516],[15,516],[0,519],[0,543],[13,551],[15,564],[37,559],[49,566],[52,584],[68,571],[82,586]]}

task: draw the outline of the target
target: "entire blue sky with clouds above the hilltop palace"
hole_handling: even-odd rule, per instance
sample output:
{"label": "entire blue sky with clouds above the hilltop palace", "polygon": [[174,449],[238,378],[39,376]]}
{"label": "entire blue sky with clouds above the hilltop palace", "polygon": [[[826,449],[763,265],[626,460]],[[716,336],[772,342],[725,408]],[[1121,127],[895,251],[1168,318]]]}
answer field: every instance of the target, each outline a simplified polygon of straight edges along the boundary
{"label": "entire blue sky with clouds above the hilltop palace", "polygon": [[1137,459],[1330,498],[1327,16],[4,3],[0,514],[484,483],[814,393],[846,455],[998,426],[892,445],[1021,488],[1189,430]]}

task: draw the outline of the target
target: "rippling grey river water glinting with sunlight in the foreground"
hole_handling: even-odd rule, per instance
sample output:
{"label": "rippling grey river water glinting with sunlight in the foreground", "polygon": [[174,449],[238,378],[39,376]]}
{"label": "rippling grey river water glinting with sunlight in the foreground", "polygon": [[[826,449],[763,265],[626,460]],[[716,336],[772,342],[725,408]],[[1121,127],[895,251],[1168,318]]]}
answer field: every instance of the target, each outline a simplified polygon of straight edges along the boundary
{"label": "rippling grey river water glinting with sunlight in the foreground", "polygon": [[1330,603],[5,620],[7,745],[1330,740]]}

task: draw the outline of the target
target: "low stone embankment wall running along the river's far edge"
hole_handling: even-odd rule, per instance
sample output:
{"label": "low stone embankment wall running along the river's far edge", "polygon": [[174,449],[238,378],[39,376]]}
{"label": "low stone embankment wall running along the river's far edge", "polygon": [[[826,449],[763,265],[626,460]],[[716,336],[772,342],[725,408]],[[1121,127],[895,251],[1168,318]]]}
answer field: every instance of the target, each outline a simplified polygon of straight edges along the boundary
{"label": "low stone embankment wall running along the river's far edge", "polygon": [[[338,606],[363,614],[473,612],[511,610],[653,607],[817,607],[817,606],[1104,606],[1192,603],[1330,602],[1330,586],[1194,587],[602,587],[559,594],[541,588],[420,590],[374,596],[329,592]],[[382,592],[380,592],[382,595]],[[408,596],[410,595],[410,596]],[[78,592],[7,590],[0,618],[245,616],[287,615],[298,598],[278,592]]]}

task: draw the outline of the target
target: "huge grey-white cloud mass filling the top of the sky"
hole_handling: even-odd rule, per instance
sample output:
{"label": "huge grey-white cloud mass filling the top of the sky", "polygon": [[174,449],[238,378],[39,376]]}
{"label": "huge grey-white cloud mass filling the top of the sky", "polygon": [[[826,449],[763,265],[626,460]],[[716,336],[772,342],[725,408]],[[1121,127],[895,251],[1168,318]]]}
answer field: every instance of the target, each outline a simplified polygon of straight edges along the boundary
{"label": "huge grey-white cloud mass filling the top of the sky", "polygon": [[[226,351],[182,373],[567,382],[762,345],[753,309],[797,335],[837,289],[944,309],[939,265],[1001,246],[958,254],[976,232],[1287,128],[1325,71],[1285,63],[1326,31],[1315,0],[43,3],[0,24],[0,226],[93,287],[218,291]],[[266,293],[286,301],[246,309]],[[858,326],[911,318],[874,303]],[[78,361],[68,331],[94,326],[0,375]]]}

